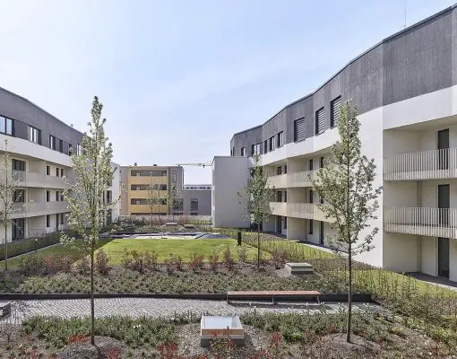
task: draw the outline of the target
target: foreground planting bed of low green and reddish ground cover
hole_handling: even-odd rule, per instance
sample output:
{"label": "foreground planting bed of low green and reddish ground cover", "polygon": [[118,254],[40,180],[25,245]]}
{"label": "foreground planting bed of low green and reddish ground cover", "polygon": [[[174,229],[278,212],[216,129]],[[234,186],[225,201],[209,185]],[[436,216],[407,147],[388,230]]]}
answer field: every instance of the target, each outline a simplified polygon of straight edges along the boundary
{"label": "foreground planting bed of low green and reddish ground cover", "polygon": [[[117,339],[126,347],[128,358],[412,359],[454,354],[444,344],[402,325],[401,318],[367,308],[354,313],[354,338],[358,344],[350,346],[341,341],[345,312],[328,313],[324,305],[315,314],[242,314],[246,346],[241,347],[223,338],[214,340],[210,348],[201,348],[199,320],[200,315],[192,312],[158,319],[107,317],[96,321],[95,335]],[[0,338],[0,358],[59,358],[65,347],[87,342],[90,328],[89,318],[33,317],[15,326],[8,340]],[[112,351],[113,356],[108,357],[118,358],[115,354]]]}

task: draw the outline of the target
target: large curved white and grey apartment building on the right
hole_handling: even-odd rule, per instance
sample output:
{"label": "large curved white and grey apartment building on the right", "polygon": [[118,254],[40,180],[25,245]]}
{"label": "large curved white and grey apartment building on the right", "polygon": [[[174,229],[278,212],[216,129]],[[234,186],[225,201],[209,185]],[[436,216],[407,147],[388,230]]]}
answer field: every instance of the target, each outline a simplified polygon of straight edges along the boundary
{"label": "large curved white and grey apartment building on the right", "polygon": [[236,193],[259,153],[276,190],[263,230],[328,245],[331,223],[309,178],[339,139],[340,108],[351,100],[362,151],[377,166],[375,187],[384,188],[371,223],[380,229],[375,250],[358,259],[457,281],[456,23],[454,5],[395,33],[263,125],[236,133],[230,156],[214,158],[213,223],[247,225]]}

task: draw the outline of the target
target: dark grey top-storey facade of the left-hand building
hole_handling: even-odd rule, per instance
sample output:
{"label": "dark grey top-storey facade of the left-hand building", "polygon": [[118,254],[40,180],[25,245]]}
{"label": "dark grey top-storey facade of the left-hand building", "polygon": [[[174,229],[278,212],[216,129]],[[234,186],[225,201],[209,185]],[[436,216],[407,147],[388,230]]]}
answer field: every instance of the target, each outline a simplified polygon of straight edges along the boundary
{"label": "dark grey top-storey facade of the left-hand building", "polygon": [[59,140],[62,140],[61,152],[65,154],[68,154],[68,144],[76,151],[77,145],[82,142],[82,132],[3,88],[0,88],[0,116],[13,119],[13,136],[29,140],[29,126],[38,128],[41,131],[41,145],[49,147],[49,136],[55,136],[56,151],[60,150]]}

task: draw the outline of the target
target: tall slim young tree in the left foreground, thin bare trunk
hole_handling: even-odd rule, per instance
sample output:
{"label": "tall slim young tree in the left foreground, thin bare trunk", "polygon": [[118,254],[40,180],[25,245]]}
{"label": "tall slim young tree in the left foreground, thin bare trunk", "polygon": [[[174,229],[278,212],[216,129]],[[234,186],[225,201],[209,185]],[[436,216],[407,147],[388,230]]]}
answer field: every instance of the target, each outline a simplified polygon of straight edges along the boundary
{"label": "tall slim young tree in the left foreground, thin bare trunk", "polygon": [[[73,153],[74,180],[64,191],[68,202],[68,224],[82,238],[83,250],[91,256],[91,344],[94,345],[94,252],[99,241],[99,232],[105,225],[107,215],[116,206],[118,198],[110,203],[104,194],[113,179],[111,165],[113,149],[105,135],[105,118],[101,118],[102,103],[95,96],[92,102],[89,133],[82,137],[82,152]],[[62,233],[61,241],[71,245],[75,238]]]}

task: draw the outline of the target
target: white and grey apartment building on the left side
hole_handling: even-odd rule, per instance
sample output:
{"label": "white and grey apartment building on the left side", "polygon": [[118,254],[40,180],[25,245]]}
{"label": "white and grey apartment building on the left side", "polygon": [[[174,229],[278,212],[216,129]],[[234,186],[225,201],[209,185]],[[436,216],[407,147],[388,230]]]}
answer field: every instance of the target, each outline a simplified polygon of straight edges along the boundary
{"label": "white and grey apartment building on the left side", "polygon": [[[7,139],[19,185],[13,196],[16,212],[7,231],[8,241],[39,237],[65,227],[68,208],[63,191],[74,177],[70,153],[81,151],[82,136],[34,103],[0,88],[0,147],[4,148]],[[115,176],[107,200],[119,194],[118,171]],[[111,220],[117,216],[115,208]]]}

